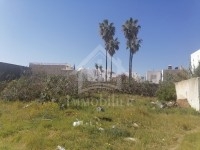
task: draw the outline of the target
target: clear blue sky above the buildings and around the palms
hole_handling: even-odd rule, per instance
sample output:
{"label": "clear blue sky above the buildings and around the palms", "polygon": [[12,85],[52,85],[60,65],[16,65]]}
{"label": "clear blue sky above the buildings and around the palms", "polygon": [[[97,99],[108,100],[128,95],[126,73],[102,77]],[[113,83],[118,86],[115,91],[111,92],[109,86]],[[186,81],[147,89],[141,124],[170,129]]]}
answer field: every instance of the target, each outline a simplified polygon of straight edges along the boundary
{"label": "clear blue sky above the buildings and around the palms", "polygon": [[[122,24],[139,20],[140,50],[133,71],[189,66],[200,49],[199,0],[0,0],[0,62],[81,63],[99,44],[99,23],[113,22],[120,48],[114,55],[128,71]],[[103,64],[104,65],[104,64]]]}

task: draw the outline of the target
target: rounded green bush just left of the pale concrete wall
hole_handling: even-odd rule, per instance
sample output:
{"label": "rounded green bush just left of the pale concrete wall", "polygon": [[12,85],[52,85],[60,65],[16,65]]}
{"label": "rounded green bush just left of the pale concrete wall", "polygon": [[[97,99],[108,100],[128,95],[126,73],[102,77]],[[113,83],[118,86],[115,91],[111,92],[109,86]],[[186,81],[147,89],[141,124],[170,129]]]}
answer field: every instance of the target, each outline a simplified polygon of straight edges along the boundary
{"label": "rounded green bush just left of the pale concrete wall", "polygon": [[159,100],[174,101],[176,100],[176,90],[173,82],[163,82],[159,85],[159,89],[156,92],[156,96]]}

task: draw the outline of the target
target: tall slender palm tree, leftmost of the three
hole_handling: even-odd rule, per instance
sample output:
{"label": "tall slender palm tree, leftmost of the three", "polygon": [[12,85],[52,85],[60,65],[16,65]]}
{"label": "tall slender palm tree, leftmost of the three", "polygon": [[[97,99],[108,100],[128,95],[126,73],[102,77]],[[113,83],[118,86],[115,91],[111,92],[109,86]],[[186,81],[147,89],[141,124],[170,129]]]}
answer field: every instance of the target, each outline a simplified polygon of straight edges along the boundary
{"label": "tall slender palm tree, leftmost of the three", "polygon": [[105,42],[105,49],[106,49],[106,82],[107,82],[107,53],[108,53],[108,43],[110,40],[113,39],[113,36],[115,34],[115,27],[113,26],[113,23],[109,23],[107,19],[103,20],[102,23],[99,23],[100,28],[100,35],[102,39]]}

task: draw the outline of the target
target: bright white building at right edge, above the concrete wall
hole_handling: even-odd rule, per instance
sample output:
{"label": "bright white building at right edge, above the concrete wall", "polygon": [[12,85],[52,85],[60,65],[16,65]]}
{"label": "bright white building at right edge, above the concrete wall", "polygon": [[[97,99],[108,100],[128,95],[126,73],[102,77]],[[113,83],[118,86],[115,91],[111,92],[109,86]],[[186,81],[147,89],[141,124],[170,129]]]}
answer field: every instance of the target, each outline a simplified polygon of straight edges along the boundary
{"label": "bright white building at right edge, above the concrete wall", "polygon": [[191,54],[191,70],[194,71],[200,63],[200,49]]}

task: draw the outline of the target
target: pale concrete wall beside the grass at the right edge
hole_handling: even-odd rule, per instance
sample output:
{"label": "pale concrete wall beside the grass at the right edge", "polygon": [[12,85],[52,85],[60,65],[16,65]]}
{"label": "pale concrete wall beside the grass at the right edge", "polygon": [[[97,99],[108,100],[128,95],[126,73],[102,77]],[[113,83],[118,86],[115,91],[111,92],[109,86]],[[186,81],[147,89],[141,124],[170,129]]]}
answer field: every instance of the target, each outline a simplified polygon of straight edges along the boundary
{"label": "pale concrete wall beside the grass at the right edge", "polygon": [[175,83],[177,99],[187,99],[192,108],[200,111],[200,78]]}

